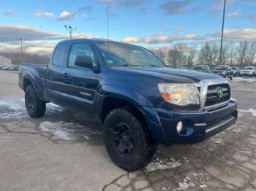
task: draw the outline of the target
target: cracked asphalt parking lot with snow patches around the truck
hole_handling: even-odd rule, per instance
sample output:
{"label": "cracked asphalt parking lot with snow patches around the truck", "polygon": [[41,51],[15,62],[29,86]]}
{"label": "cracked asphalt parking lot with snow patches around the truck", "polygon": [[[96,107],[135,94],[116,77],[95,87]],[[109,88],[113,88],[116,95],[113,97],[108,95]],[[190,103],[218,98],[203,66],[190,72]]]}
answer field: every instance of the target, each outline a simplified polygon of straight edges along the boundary
{"label": "cracked asphalt parking lot with snow patches around the truck", "polygon": [[236,125],[200,144],[159,146],[132,173],[111,162],[92,117],[54,104],[28,117],[17,80],[0,71],[0,190],[256,190],[256,79],[230,81]]}

